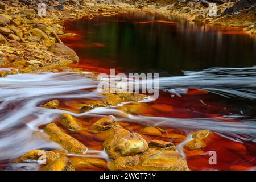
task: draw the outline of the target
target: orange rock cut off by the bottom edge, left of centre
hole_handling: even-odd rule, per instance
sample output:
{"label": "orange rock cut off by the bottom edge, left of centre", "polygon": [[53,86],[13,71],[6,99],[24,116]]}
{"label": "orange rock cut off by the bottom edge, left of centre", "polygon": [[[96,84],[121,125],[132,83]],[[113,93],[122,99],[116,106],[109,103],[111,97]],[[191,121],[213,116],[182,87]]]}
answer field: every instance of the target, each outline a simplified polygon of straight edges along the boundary
{"label": "orange rock cut off by the bottom edge, left of centre", "polygon": [[42,169],[43,171],[75,171],[75,168],[67,157],[60,157]]}

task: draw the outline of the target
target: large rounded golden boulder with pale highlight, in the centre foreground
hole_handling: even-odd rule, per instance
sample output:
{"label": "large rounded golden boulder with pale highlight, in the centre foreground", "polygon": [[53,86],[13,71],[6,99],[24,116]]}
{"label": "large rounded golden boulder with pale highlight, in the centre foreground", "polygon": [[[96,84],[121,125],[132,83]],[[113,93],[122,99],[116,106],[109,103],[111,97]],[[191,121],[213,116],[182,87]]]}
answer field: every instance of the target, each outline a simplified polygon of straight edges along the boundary
{"label": "large rounded golden boulder with pale highlight, in the centre foreground", "polygon": [[103,147],[111,159],[142,154],[148,150],[148,144],[141,135],[125,129],[115,129],[114,136],[105,140]]}

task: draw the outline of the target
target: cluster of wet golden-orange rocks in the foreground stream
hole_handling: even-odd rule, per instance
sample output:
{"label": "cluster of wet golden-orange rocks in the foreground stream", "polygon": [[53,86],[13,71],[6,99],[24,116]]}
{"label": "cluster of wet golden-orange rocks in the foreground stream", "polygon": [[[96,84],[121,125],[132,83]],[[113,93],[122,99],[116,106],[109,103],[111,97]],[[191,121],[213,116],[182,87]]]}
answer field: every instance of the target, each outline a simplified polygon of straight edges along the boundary
{"label": "cluster of wet golden-orange rocks in the foreground stream", "polygon": [[[111,95],[111,94],[110,94]],[[112,102],[139,101],[146,96],[126,96],[126,100],[120,101],[123,94],[115,94],[117,98],[106,97],[102,105],[110,99]],[[119,97],[119,98],[118,98]],[[127,99],[127,98],[130,98]],[[52,100],[43,104],[47,109],[59,109],[60,102]],[[42,152],[46,156],[42,170],[75,170],[80,168],[105,168],[111,170],[188,170],[187,161],[177,151],[172,142],[150,139],[143,136],[165,137],[166,131],[159,127],[147,126],[140,131],[141,134],[130,132],[123,128],[112,115],[98,119],[92,125],[84,127],[75,117],[64,113],[59,116],[59,122],[49,123],[44,127],[44,139],[58,143],[63,150],[35,150],[30,151],[15,159],[14,162],[40,162]],[[68,131],[80,135],[90,135],[102,143],[102,147],[108,154],[110,161],[101,158],[86,157],[88,148],[76,138],[68,134]],[[192,140],[184,146],[185,150],[201,150],[207,145],[207,139],[212,133],[207,130],[193,133]],[[163,136],[162,136],[163,135]],[[177,138],[177,136],[176,136]],[[79,154],[84,157],[67,156],[67,154]]]}

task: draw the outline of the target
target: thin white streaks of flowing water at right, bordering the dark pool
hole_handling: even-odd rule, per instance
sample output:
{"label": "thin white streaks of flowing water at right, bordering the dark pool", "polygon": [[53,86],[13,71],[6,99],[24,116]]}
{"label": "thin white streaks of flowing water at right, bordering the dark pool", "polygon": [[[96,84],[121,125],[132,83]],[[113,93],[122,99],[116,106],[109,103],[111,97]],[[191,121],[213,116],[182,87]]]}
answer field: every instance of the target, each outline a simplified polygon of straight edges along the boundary
{"label": "thin white streaks of flowing water at right, bordering the dark pool", "polygon": [[256,99],[256,67],[209,68],[185,71],[184,76],[163,77],[159,88],[183,93],[187,88],[201,88],[225,97]]}

